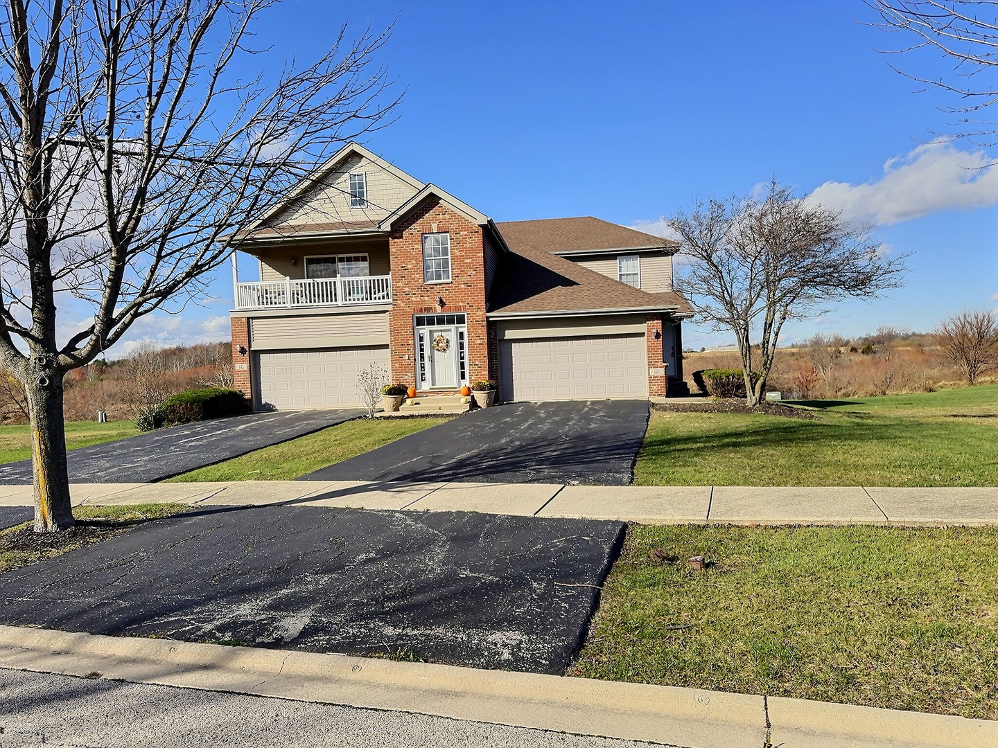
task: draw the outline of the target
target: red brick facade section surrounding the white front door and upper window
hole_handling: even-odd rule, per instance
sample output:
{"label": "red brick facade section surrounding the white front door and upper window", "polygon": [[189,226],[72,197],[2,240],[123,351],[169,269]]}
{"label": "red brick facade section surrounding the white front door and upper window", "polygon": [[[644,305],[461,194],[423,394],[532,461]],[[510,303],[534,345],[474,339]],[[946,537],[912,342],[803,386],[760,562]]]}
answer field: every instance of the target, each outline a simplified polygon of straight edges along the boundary
{"label": "red brick facade section surrounding the white front door and upper window", "polygon": [[[450,276],[446,283],[423,281],[423,233],[450,234]],[[388,314],[391,379],[416,385],[413,315],[464,313],[467,319],[468,381],[489,377],[485,323],[485,255],[481,226],[451,210],[438,198],[427,199],[389,236],[392,305]],[[443,299],[443,304],[438,302]]]}

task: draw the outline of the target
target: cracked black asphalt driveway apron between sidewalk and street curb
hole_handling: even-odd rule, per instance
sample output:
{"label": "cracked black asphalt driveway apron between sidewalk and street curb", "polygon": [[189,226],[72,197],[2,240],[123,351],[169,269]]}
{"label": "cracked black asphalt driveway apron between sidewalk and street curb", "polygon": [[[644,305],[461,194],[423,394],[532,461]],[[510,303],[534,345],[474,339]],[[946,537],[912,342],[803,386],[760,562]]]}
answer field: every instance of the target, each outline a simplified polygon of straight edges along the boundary
{"label": "cracked black asphalt driveway apron between sidewalk and street curb", "polygon": [[470,512],[204,509],[4,574],[0,622],[562,674],[624,529]]}

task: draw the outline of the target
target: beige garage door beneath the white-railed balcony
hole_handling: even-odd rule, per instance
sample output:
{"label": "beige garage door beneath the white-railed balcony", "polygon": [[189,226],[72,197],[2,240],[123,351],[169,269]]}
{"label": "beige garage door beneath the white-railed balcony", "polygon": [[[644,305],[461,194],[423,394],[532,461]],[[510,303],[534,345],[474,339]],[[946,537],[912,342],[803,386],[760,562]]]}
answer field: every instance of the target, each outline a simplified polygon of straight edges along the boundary
{"label": "beige garage door beneath the white-railed balcony", "polygon": [[360,408],[357,374],[388,371],[388,346],[256,354],[257,403],[263,409]]}

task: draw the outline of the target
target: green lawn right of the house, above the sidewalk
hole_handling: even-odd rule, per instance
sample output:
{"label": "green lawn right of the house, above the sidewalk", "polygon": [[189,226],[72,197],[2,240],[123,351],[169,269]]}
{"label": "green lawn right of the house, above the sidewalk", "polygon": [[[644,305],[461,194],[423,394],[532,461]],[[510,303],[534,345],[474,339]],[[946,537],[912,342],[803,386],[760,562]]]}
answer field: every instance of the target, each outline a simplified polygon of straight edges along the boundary
{"label": "green lawn right of the house, above the sidewalk", "polygon": [[808,401],[812,419],[653,411],[635,483],[998,485],[998,386],[831,402]]}

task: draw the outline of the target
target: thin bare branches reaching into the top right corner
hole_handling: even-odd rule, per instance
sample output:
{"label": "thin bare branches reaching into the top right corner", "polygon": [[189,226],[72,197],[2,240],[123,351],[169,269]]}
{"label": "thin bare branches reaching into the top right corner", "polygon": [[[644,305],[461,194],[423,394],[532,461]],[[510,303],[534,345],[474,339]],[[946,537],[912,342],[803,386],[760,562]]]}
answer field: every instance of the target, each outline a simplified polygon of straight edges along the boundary
{"label": "thin bare branches reaching into the top right corner", "polygon": [[874,25],[910,40],[888,52],[935,52],[952,72],[894,70],[952,94],[959,100],[949,110],[958,118],[954,125],[959,135],[978,145],[995,145],[995,122],[977,118],[998,97],[998,0],[867,0],[867,5],[880,15]]}

